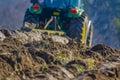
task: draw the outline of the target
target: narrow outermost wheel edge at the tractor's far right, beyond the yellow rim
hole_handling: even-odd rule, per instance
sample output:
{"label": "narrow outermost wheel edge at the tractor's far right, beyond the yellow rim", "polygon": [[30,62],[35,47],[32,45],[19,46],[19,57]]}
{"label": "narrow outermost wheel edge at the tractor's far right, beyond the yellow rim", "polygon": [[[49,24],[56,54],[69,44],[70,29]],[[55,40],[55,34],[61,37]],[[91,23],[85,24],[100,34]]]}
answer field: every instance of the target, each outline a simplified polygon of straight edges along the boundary
{"label": "narrow outermost wheel edge at the tractor's far right, beyond the yellow rim", "polygon": [[90,29],[88,32],[87,40],[86,40],[86,45],[91,46],[92,45],[92,39],[93,39],[93,25],[90,25]]}

